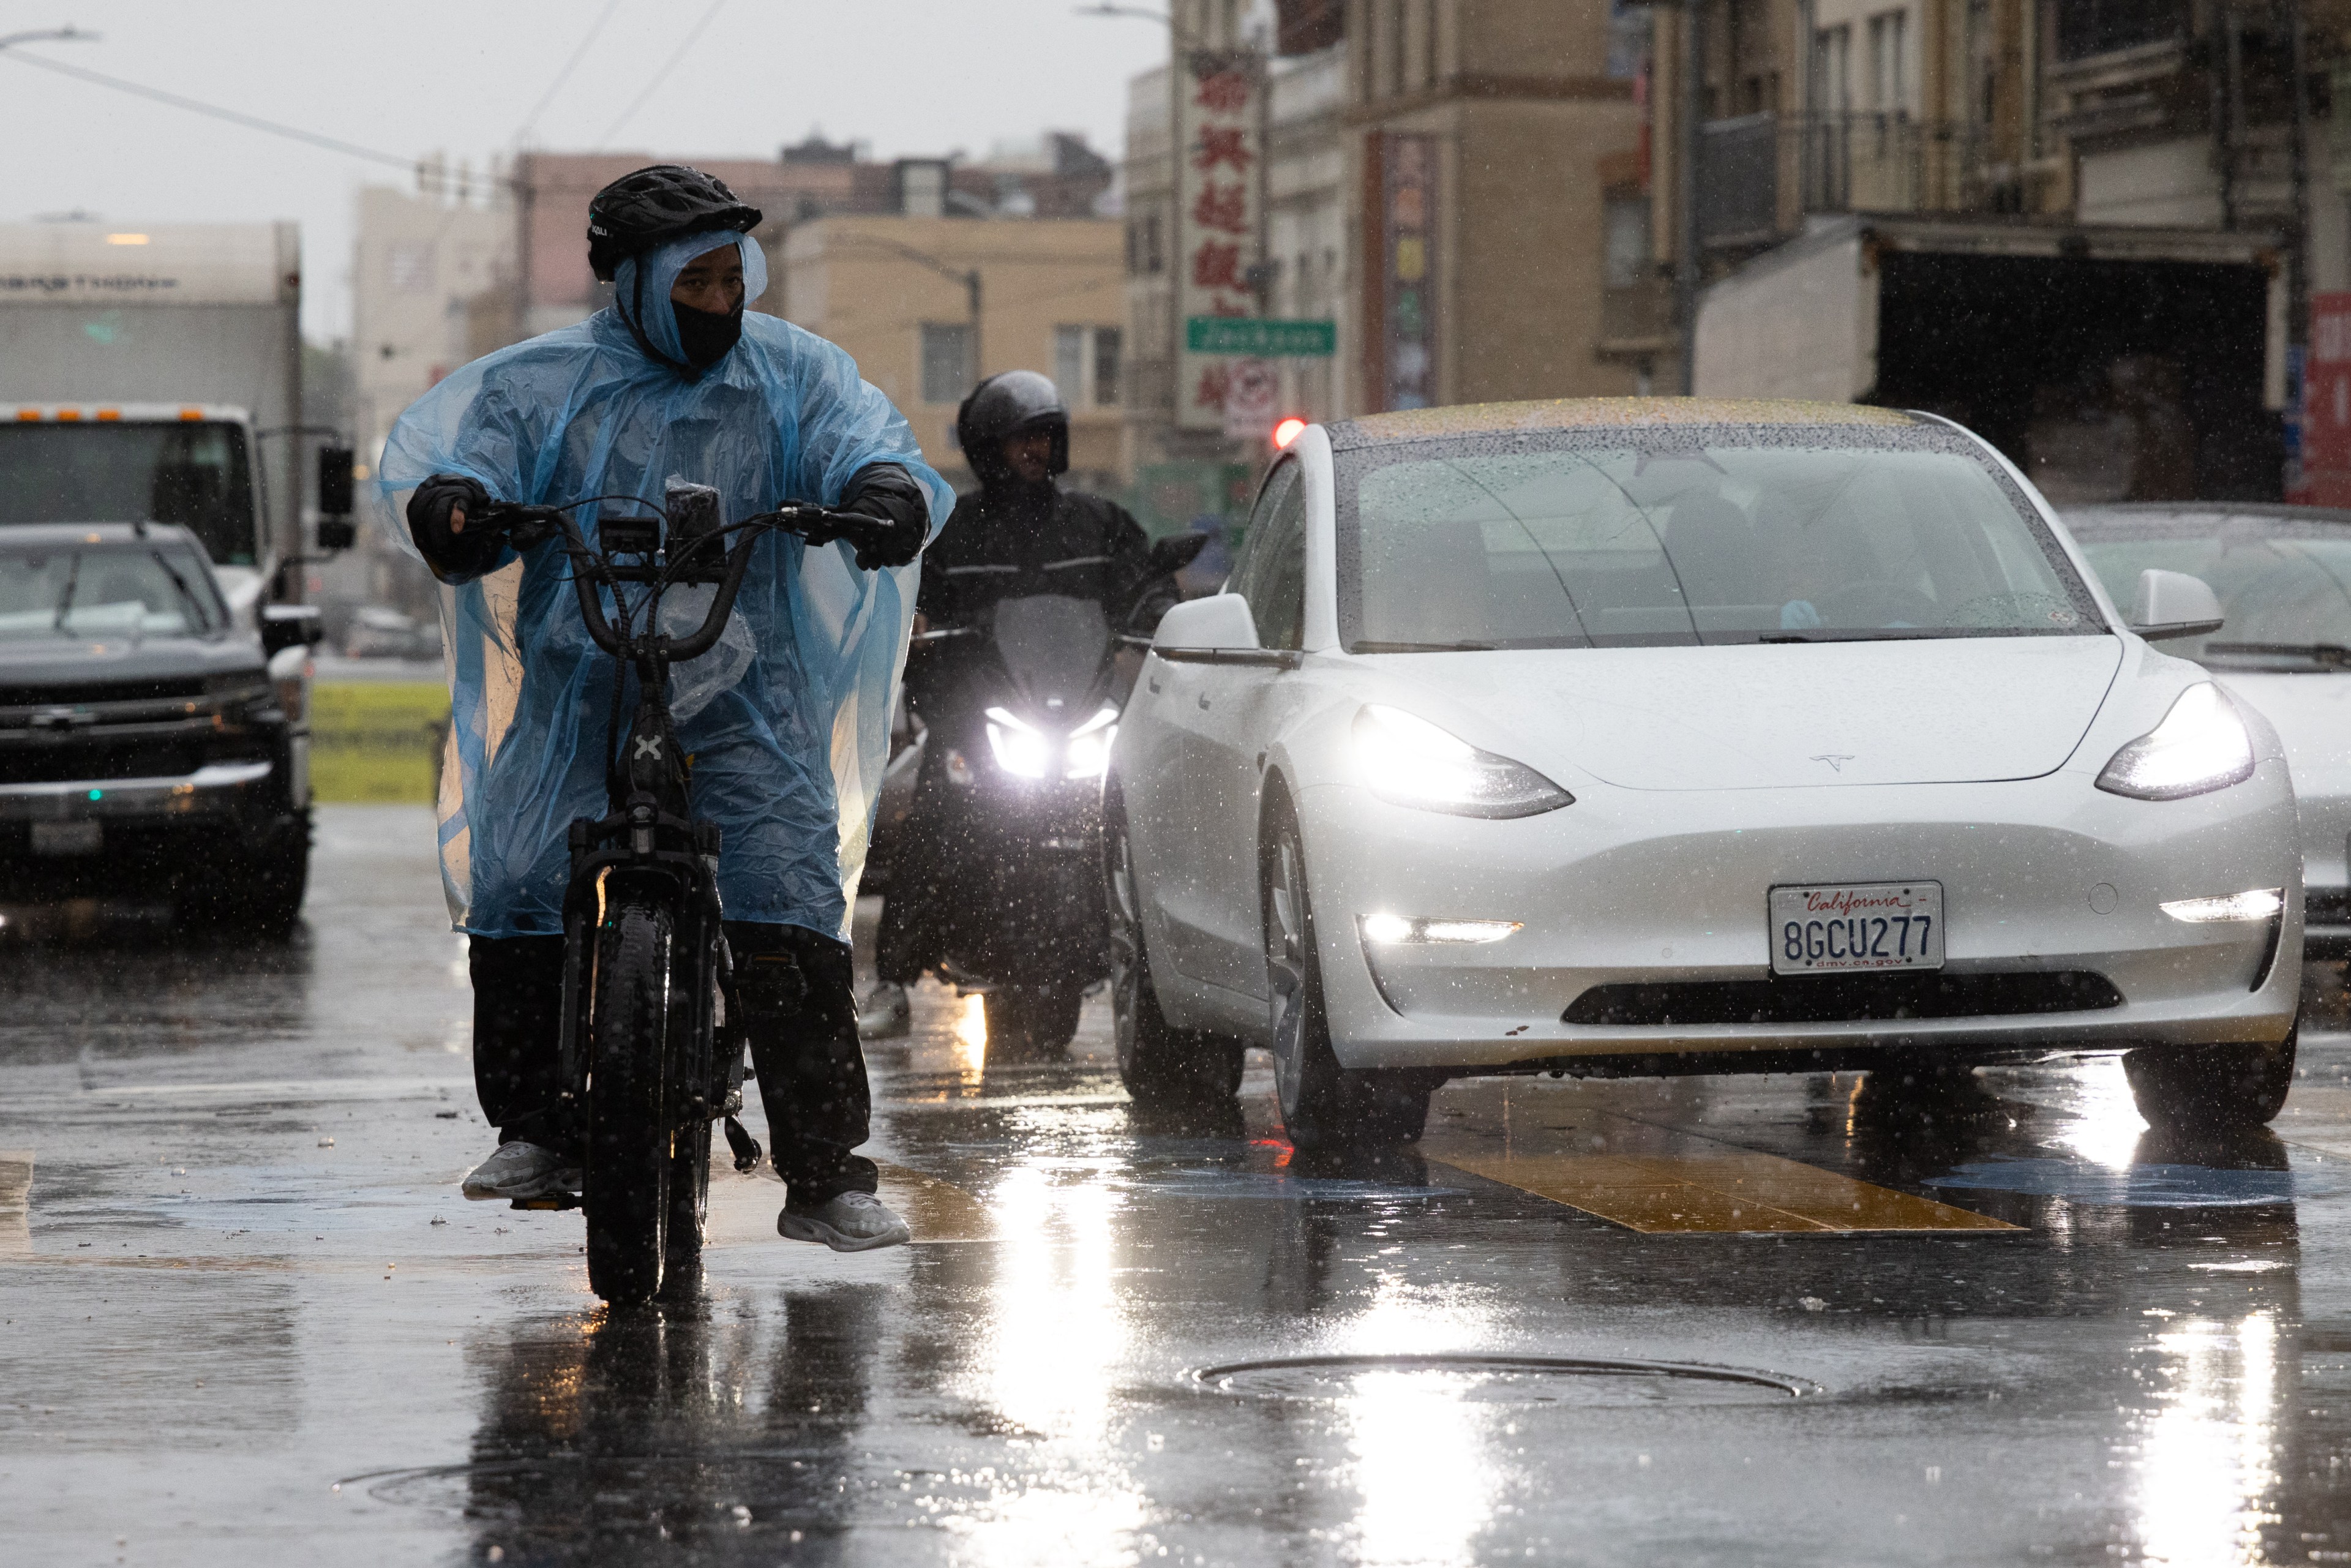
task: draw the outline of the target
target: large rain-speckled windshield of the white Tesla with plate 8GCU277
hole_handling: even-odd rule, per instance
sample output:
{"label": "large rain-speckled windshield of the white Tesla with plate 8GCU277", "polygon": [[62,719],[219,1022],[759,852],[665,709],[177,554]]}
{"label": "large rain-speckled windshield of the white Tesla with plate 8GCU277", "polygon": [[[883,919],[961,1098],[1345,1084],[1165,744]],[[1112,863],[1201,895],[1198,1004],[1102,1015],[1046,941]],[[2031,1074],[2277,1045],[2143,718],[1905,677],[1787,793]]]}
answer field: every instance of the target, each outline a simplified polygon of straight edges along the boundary
{"label": "large rain-speckled windshield of the white Tesla with plate 8GCU277", "polygon": [[1610,428],[1338,458],[1357,654],[2104,630],[2024,494],[1918,428]]}

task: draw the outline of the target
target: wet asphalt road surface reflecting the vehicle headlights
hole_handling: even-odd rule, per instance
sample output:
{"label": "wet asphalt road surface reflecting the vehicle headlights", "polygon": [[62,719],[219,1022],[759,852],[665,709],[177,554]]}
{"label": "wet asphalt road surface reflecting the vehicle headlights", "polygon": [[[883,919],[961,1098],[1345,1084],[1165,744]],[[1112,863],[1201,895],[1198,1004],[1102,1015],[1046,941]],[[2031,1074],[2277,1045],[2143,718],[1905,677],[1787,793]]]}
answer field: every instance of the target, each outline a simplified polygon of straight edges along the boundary
{"label": "wet asphalt road surface reflecting the vehicle headlights", "polygon": [[[1147,1124],[1098,1004],[1006,1063],[926,990],[870,1051],[919,1244],[726,1171],[705,1295],[607,1321],[578,1215],[456,1194],[428,842],[324,811],[268,954],[0,945],[7,1561],[2351,1561],[2351,1034],[2231,1147],[2097,1063],[1455,1084],[1310,1166],[1262,1060]],[[1354,1361],[1218,1371],[1295,1356]]]}

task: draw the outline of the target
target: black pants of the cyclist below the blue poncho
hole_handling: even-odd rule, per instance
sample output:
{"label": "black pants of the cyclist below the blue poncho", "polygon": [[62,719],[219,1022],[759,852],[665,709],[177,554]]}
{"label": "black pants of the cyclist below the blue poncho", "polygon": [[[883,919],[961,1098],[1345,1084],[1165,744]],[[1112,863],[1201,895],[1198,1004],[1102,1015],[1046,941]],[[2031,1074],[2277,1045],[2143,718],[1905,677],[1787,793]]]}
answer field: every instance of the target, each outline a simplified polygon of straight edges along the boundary
{"label": "black pants of the cyclist below the blue poncho", "polygon": [[[872,1098],[849,947],[799,926],[731,919],[750,1060],[766,1105],[769,1152],[795,1206],[872,1192]],[[564,938],[477,936],[473,947],[473,1086],[498,1140],[578,1150],[562,1107],[555,1037],[562,1027]]]}

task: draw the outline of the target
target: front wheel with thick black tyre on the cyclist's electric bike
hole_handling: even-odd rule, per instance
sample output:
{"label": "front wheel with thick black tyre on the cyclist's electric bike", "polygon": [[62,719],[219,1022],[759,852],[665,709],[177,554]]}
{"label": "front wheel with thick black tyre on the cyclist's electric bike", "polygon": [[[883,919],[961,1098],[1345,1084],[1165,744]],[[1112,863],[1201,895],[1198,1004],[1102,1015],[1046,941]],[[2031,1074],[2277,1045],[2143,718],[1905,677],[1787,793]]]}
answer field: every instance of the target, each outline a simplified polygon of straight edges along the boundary
{"label": "front wheel with thick black tyre on the cyclist's electric bike", "polygon": [[623,898],[597,931],[581,1175],[588,1288],[614,1307],[661,1291],[675,1161],[665,1093],[670,945],[668,910],[637,898]]}

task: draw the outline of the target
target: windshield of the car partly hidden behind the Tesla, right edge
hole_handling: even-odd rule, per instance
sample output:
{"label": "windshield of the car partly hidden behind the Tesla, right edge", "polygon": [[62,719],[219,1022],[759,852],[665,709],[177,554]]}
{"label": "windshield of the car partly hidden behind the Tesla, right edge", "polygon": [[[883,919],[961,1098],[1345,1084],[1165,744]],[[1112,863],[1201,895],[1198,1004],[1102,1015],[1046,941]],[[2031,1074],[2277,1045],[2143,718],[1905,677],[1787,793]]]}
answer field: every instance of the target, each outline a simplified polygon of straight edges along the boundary
{"label": "windshield of the car partly hidden behind the Tesla, right edge", "polygon": [[2069,512],[2067,527],[2116,604],[2149,567],[2212,585],[2226,625],[2168,654],[2215,670],[2351,670],[2351,522],[2118,505]]}

